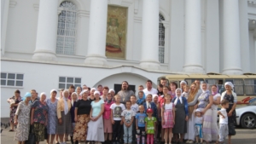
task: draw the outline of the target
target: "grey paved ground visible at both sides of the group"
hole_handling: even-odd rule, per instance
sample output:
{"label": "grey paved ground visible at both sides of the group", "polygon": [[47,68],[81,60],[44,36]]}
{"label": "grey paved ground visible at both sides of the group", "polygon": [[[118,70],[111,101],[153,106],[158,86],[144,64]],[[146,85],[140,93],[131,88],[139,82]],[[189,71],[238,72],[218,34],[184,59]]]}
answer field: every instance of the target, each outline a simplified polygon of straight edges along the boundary
{"label": "grey paved ground visible at both sides of the group", "polygon": [[[2,118],[2,122],[6,123],[6,119]],[[2,144],[15,144],[14,141],[15,132],[9,132],[9,128],[3,129],[1,134]],[[70,143],[70,142],[67,142]],[[40,144],[46,144],[46,142],[40,142]],[[236,128],[236,135],[232,138],[232,144],[256,144],[256,129],[246,130],[241,128]]]}

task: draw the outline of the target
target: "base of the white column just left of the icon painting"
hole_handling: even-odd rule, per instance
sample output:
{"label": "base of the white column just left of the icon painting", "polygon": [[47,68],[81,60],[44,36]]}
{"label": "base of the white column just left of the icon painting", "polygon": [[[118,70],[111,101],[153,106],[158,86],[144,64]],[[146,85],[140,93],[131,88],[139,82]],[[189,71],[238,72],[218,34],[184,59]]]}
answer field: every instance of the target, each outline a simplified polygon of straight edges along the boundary
{"label": "base of the white column just left of the icon painting", "polygon": [[87,55],[84,63],[93,66],[107,66],[106,56],[103,55]]}

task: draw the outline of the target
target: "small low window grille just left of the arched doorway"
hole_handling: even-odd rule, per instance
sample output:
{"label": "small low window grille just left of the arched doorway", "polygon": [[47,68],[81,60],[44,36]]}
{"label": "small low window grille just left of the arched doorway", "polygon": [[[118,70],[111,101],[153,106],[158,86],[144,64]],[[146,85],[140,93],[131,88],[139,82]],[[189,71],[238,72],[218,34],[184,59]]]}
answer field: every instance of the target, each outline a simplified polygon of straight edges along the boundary
{"label": "small low window grille just left of the arched doorway", "polygon": [[73,77],[59,77],[59,89],[68,89],[70,85],[73,85],[75,88],[81,86],[82,78],[73,78]]}

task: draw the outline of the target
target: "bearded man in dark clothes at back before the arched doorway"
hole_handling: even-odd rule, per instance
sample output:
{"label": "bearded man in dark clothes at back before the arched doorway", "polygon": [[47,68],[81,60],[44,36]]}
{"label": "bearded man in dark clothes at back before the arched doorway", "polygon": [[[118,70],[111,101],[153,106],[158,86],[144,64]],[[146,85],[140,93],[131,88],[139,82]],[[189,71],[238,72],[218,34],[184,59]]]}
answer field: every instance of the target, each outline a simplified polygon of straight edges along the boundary
{"label": "bearded man in dark clothes at back before the arched doorway", "polygon": [[134,92],[129,88],[128,82],[124,81],[122,83],[122,89],[118,92],[118,95],[121,97],[121,103],[131,100],[131,95],[134,95]]}

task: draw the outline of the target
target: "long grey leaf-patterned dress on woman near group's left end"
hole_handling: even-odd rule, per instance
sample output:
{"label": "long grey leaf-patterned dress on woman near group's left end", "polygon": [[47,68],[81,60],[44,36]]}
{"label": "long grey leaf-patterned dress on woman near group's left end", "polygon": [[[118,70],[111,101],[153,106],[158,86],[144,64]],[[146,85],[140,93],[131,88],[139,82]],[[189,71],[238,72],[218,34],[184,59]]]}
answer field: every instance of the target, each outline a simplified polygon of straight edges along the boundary
{"label": "long grey leaf-patterned dress on woman near group's left end", "polygon": [[18,125],[15,134],[16,141],[26,141],[29,135],[31,104],[21,101],[15,115],[18,115]]}

